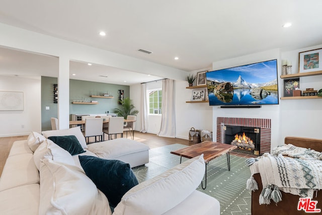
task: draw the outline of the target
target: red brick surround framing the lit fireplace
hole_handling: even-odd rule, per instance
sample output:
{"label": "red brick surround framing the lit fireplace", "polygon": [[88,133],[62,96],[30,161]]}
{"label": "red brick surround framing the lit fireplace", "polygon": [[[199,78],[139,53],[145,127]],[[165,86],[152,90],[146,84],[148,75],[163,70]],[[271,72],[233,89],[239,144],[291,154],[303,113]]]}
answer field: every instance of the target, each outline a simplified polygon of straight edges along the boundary
{"label": "red brick surround framing the lit fireplace", "polygon": [[271,152],[271,119],[217,117],[216,141],[222,144],[225,143],[225,130],[223,129],[225,125],[261,128],[260,154]]}

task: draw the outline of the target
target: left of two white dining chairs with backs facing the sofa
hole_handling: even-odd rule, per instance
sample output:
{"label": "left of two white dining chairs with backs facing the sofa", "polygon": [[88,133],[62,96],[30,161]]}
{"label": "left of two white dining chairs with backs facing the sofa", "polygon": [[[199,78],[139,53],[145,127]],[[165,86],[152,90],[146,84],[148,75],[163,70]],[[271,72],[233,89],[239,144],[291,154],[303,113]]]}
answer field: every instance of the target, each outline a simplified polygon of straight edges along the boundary
{"label": "left of two white dining chairs with backs facing the sofa", "polygon": [[[103,140],[103,118],[86,118],[85,119],[85,130],[83,131],[85,138],[90,143],[90,137],[95,136],[95,142],[97,142],[97,136],[101,136]],[[99,138],[100,140],[100,138]]]}

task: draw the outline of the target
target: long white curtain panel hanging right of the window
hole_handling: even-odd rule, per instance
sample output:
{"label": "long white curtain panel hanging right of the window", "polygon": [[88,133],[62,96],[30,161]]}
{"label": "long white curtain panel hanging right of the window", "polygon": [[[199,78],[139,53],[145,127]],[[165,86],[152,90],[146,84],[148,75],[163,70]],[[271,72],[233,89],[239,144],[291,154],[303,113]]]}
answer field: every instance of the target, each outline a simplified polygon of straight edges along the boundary
{"label": "long white curtain panel hanging right of the window", "polygon": [[176,137],[175,81],[162,81],[162,120],[158,136]]}

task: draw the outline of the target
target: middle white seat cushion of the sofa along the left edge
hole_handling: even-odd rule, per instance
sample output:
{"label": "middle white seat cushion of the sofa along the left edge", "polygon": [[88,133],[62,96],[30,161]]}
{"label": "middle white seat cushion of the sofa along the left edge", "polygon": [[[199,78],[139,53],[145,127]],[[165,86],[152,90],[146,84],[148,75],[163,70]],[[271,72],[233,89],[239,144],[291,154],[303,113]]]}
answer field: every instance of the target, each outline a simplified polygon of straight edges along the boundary
{"label": "middle white seat cushion of the sofa along the left edge", "polygon": [[32,154],[8,157],[0,178],[0,191],[39,183],[39,173]]}

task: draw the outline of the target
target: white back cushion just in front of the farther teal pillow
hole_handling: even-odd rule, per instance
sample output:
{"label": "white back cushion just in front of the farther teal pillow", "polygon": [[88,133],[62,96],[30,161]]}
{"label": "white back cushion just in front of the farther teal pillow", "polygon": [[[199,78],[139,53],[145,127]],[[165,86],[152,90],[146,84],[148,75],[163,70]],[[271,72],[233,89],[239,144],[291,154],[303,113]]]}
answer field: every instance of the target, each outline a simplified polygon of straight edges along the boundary
{"label": "white back cushion just in front of the farther teal pillow", "polygon": [[34,162],[38,170],[40,169],[41,160],[45,158],[55,162],[75,165],[72,156],[50,139],[46,139],[34,152]]}

